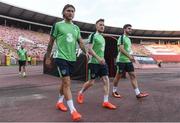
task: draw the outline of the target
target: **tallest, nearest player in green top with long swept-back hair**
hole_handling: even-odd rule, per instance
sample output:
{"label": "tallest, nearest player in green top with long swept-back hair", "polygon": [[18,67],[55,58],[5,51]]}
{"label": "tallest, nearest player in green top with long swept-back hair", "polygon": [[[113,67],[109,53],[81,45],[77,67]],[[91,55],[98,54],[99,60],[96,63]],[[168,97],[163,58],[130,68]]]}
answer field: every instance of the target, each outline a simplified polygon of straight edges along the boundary
{"label": "tallest, nearest player in green top with long swept-back hair", "polygon": [[62,11],[64,20],[55,23],[52,27],[45,63],[46,65],[50,65],[51,63],[50,55],[55,41],[56,49],[53,58],[57,65],[60,77],[62,78],[62,83],[59,89],[59,99],[56,103],[56,107],[62,111],[67,111],[67,107],[63,103],[65,97],[70,109],[72,120],[78,121],[82,116],[76,110],[72,100],[70,75],[73,73],[73,65],[76,61],[76,44],[79,44],[80,48],[86,55],[87,52],[81,38],[80,29],[72,22],[74,14],[75,7],[73,5],[67,4],[64,6]]}

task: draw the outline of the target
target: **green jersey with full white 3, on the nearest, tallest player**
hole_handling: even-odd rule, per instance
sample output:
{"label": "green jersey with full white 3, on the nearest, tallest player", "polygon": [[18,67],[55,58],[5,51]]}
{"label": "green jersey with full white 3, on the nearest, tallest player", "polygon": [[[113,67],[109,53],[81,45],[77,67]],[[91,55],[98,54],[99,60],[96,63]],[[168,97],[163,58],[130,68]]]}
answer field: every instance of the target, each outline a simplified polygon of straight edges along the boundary
{"label": "green jersey with full white 3, on the nearest, tallest player", "polygon": [[51,36],[56,42],[54,58],[76,61],[76,45],[81,38],[80,29],[73,23],[57,22],[51,30]]}

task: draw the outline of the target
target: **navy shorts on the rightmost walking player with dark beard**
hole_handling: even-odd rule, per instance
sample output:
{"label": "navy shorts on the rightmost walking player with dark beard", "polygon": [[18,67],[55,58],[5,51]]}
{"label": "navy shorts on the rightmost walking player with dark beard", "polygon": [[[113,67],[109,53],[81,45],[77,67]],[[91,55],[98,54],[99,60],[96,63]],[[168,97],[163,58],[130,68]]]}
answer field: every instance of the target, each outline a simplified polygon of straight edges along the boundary
{"label": "navy shorts on the rightmost walking player with dark beard", "polygon": [[128,63],[122,63],[118,62],[116,63],[117,72],[122,74],[123,72],[134,72],[134,65],[132,62]]}

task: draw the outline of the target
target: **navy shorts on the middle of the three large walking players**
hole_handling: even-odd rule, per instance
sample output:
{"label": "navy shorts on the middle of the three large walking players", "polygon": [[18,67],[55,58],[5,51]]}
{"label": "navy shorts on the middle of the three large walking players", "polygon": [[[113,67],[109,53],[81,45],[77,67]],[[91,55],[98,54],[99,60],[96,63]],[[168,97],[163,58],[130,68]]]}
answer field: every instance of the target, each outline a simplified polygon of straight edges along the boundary
{"label": "navy shorts on the middle of the three large walking players", "polygon": [[89,63],[88,64],[88,75],[89,75],[89,77],[88,77],[89,80],[95,79],[97,77],[109,75],[107,64],[100,65],[100,64]]}

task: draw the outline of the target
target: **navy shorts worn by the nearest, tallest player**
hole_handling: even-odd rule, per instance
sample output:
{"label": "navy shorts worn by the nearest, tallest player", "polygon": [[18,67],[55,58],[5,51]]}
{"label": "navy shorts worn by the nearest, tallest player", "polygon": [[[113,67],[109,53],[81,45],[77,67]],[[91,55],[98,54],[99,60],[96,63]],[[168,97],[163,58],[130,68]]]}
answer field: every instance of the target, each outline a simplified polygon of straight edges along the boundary
{"label": "navy shorts worn by the nearest, tallest player", "polygon": [[55,58],[60,77],[71,76],[74,68],[74,61],[67,61],[64,59]]}

